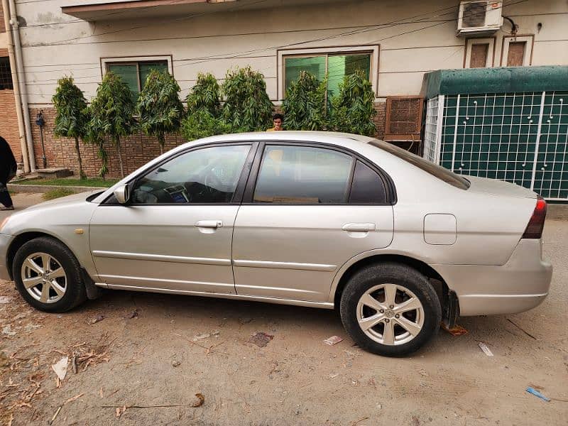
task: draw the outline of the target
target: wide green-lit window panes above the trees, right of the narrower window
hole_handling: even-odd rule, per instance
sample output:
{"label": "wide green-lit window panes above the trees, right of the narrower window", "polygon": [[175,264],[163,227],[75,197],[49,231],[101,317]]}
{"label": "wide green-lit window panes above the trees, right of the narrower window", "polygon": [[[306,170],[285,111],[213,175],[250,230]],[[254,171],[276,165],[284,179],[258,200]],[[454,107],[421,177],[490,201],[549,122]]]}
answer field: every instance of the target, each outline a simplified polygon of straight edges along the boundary
{"label": "wide green-lit window panes above the trees, right of the narrower window", "polygon": [[367,80],[371,76],[371,52],[365,53],[317,53],[313,55],[290,55],[284,57],[284,91],[290,83],[297,80],[300,72],[307,71],[317,80],[324,80],[327,74],[327,93],[339,91],[343,77],[356,70],[365,73]]}

